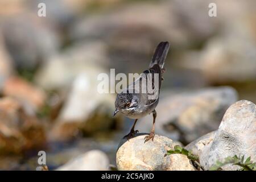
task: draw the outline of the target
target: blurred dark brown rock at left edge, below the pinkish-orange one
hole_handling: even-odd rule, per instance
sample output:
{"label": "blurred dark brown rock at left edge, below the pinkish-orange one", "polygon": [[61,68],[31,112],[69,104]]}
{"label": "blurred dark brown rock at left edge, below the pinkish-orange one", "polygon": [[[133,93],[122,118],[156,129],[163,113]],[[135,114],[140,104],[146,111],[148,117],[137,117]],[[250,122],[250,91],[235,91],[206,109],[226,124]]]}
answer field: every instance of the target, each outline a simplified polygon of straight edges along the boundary
{"label": "blurred dark brown rock at left edge, below the pinkish-orange one", "polygon": [[42,148],[44,127],[35,115],[27,113],[14,98],[0,99],[0,154],[18,154]]}

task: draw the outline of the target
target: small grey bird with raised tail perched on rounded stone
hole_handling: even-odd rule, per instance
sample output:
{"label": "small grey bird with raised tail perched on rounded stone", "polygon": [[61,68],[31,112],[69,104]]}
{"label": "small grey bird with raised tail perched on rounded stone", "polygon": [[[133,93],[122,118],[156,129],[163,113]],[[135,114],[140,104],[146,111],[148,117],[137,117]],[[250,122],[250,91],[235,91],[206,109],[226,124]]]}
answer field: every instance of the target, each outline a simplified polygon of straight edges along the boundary
{"label": "small grey bird with raised tail perched on rounded stone", "polygon": [[[156,119],[156,111],[155,107],[158,105],[159,101],[159,91],[161,82],[163,80],[162,73],[165,72],[164,60],[166,60],[167,53],[169,51],[170,44],[168,42],[160,42],[155,49],[155,53],[150,62],[149,68],[144,71],[132,84],[130,84],[125,92],[117,94],[115,98],[115,111],[114,115],[121,111],[126,117],[135,119],[133,127],[131,127],[130,133],[125,135],[124,138],[128,140],[133,138],[138,130],[134,130],[135,125],[138,119],[146,116],[147,114],[153,115],[153,126],[151,132],[148,136],[144,138],[144,143],[148,140],[152,139],[154,141],[155,137],[155,119]],[[158,74],[158,85],[155,83],[154,75]],[[156,77],[157,78],[157,77]],[[149,82],[151,85],[151,92],[146,89],[145,85],[141,84],[142,81]],[[131,89],[130,89],[131,88]],[[138,88],[140,90],[146,89],[146,92],[138,92]],[[135,89],[137,89],[135,92]],[[157,94],[157,98],[150,99],[152,93]],[[113,116],[114,116],[113,115]]]}

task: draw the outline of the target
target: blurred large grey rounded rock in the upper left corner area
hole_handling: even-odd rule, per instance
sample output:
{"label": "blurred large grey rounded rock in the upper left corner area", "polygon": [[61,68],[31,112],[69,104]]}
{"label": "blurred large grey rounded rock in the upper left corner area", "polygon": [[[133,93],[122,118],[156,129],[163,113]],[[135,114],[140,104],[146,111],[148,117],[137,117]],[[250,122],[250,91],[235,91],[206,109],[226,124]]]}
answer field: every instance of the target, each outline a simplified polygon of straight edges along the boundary
{"label": "blurred large grey rounded rock in the upper left corner area", "polygon": [[19,69],[33,70],[59,49],[59,38],[47,23],[28,13],[1,19],[6,48]]}

